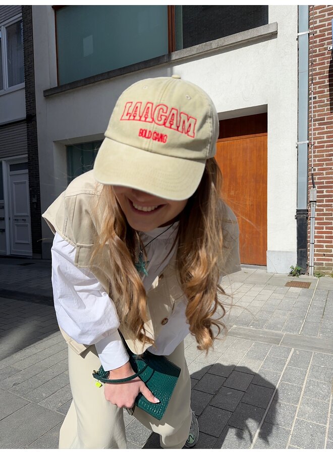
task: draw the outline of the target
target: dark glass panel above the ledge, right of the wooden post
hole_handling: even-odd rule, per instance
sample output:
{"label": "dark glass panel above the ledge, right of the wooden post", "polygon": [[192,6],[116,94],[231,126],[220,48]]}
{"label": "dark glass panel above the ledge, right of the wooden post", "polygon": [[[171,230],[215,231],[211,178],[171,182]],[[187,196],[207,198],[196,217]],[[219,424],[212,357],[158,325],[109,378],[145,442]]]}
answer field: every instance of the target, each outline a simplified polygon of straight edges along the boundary
{"label": "dark glass panel above the ledge, right of the wooden post", "polygon": [[185,49],[265,24],[267,5],[176,6],[176,48]]}

